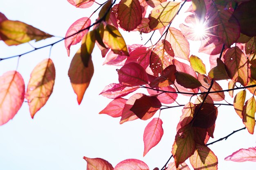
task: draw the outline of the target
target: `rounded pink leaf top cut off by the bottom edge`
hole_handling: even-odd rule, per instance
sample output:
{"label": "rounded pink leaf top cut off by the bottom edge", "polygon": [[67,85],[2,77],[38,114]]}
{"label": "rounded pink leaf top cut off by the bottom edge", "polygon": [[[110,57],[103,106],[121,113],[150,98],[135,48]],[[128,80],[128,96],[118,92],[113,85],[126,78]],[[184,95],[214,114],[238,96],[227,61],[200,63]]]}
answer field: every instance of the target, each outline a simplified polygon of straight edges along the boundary
{"label": "rounded pink leaf top cut off by the bottom edge", "polygon": [[138,159],[126,159],[117,163],[114,170],[149,170],[146,163]]}

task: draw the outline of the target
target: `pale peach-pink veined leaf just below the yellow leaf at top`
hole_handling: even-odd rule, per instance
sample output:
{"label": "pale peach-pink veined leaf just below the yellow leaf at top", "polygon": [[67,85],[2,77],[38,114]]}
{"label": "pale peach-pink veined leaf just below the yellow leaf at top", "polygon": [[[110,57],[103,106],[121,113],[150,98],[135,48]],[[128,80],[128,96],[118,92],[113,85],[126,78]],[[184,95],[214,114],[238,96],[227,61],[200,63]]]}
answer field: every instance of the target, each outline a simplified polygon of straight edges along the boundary
{"label": "pale peach-pink veined leaf just below the yellow leaf at top", "polygon": [[189,61],[189,41],[180,30],[170,27],[166,40],[171,43],[175,57]]}

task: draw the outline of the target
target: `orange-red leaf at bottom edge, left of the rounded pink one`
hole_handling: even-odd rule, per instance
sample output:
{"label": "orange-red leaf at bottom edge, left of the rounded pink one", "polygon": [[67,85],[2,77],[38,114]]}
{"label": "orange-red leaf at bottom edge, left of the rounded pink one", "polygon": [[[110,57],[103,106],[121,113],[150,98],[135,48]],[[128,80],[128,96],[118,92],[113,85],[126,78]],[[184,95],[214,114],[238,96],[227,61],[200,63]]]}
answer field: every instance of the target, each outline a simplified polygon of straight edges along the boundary
{"label": "orange-red leaf at bottom edge, left of the rounded pink one", "polygon": [[113,170],[111,163],[101,158],[83,157],[87,162],[87,170]]}

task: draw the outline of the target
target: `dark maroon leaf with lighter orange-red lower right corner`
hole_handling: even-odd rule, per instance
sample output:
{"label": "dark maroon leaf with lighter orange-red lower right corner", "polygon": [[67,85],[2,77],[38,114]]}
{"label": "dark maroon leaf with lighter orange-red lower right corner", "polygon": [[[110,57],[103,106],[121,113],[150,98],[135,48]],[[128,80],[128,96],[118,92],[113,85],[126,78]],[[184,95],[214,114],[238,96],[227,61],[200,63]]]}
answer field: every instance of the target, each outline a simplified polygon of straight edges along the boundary
{"label": "dark maroon leaf with lighter orange-red lower right corner", "polygon": [[135,113],[141,120],[148,120],[154,116],[161,107],[161,102],[155,96],[143,95],[136,99],[130,111]]}

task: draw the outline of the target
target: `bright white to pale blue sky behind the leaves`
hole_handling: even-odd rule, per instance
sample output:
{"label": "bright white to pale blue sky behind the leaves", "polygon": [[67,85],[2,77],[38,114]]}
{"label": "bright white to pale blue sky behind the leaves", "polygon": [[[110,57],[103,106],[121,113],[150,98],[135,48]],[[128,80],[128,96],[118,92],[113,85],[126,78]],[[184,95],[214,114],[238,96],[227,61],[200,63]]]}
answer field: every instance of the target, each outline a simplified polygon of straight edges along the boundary
{"label": "bright white to pale blue sky behind the leaves", "polygon": [[[89,17],[97,7],[98,5],[95,4],[90,9],[76,9],[66,0],[0,1],[0,12],[9,20],[20,20],[60,37],[65,36],[67,28],[74,21],[81,17]],[[92,22],[96,17],[96,15],[93,17]],[[174,24],[178,25],[177,21],[181,20],[175,20]],[[144,44],[148,39],[148,35],[143,34],[141,41],[138,32],[123,33],[123,36],[126,44]],[[31,45],[40,47],[58,39],[51,38],[37,43],[32,41]],[[72,47],[70,56],[73,56],[78,48],[79,46]],[[193,51],[191,54],[197,55],[197,48],[196,43],[191,44]],[[32,48],[29,44],[8,47],[1,41],[0,49],[2,58]],[[48,56],[49,48],[45,48],[20,58],[18,72],[22,74],[25,84],[28,83],[34,67]],[[198,56],[200,57],[201,54]],[[162,111],[160,117],[164,122],[162,140],[143,157],[143,133],[150,120],[135,120],[120,125],[119,118],[98,114],[111,101],[98,94],[106,85],[118,82],[116,67],[102,66],[104,59],[101,58],[98,48],[94,49],[92,54],[94,76],[79,106],[67,76],[72,57],[67,57],[64,42],[53,46],[51,59],[56,68],[56,81],[47,104],[36,113],[34,119],[31,119],[29,107],[27,103],[23,103],[13,120],[0,126],[1,170],[84,170],[86,162],[83,156],[100,157],[108,160],[113,166],[124,159],[135,158],[147,163],[150,169],[162,168],[171,156],[182,108]],[[207,64],[207,57],[203,60]],[[0,61],[0,75],[15,70],[16,65],[17,58]],[[222,88],[227,89],[227,83],[224,85]],[[232,100],[228,98],[228,101],[232,102]],[[189,98],[180,96],[178,101],[187,102]],[[218,113],[215,139],[210,139],[210,142],[244,127],[234,108],[221,106]],[[158,116],[158,113],[155,116]],[[255,163],[236,163],[224,161],[224,158],[240,148],[256,146],[255,142],[255,135],[249,135],[247,130],[244,130],[209,148],[217,155],[220,170],[251,169]]]}

